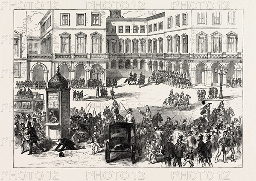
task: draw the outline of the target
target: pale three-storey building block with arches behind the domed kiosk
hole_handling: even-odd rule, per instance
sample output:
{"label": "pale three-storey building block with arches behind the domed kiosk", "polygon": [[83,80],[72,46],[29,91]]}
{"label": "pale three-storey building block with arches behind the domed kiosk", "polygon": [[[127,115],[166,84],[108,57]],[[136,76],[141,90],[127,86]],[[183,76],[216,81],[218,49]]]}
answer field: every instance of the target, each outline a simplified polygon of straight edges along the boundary
{"label": "pale three-storey building block with arches behind the domed kiosk", "polygon": [[[28,79],[48,80],[59,66],[66,79],[95,79],[97,64],[106,68],[106,11],[49,10],[42,20],[41,54],[28,55]],[[105,82],[105,74],[100,77]]]}

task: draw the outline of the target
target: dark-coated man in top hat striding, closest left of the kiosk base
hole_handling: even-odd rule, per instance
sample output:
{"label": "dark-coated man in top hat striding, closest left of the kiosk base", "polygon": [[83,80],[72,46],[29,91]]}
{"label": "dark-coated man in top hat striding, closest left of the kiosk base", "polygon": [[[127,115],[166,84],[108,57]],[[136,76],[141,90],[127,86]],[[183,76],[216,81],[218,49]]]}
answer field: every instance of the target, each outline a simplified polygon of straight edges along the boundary
{"label": "dark-coated man in top hat striding, closest left of the kiosk base", "polygon": [[28,131],[27,131],[27,135],[29,135],[29,155],[32,154],[32,150],[33,150],[33,144],[35,143],[35,146],[38,147],[42,152],[46,151],[45,148],[41,147],[38,144],[39,138],[37,136],[36,130],[34,127],[32,127],[31,122],[28,121],[27,123],[28,125]]}

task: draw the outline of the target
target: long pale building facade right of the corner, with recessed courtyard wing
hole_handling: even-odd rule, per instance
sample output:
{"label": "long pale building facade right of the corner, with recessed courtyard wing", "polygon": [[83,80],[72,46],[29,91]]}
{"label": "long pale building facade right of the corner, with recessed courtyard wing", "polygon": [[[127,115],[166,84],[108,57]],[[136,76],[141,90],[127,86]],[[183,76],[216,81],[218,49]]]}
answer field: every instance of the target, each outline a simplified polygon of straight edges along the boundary
{"label": "long pale building facade right of the corner, with recessed courtyard wing", "polygon": [[[242,78],[243,10],[166,10],[147,18],[107,18],[108,75],[127,69],[187,74],[193,85],[219,85]],[[127,70],[127,71],[125,71]],[[122,74],[120,72],[124,72]],[[117,74],[116,74],[117,75]]]}

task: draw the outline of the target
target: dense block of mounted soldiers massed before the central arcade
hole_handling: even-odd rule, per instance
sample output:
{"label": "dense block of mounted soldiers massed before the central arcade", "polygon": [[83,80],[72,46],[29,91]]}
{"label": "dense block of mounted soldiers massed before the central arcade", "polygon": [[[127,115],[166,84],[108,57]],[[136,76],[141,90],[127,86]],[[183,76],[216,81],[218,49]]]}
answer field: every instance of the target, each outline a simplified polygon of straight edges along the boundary
{"label": "dense block of mounted soldiers massed before the central arcade", "polygon": [[190,88],[192,83],[187,79],[186,73],[180,73],[175,71],[159,70],[157,73],[152,72],[152,76],[148,79],[148,82],[155,81],[157,83],[164,83],[178,88]]}

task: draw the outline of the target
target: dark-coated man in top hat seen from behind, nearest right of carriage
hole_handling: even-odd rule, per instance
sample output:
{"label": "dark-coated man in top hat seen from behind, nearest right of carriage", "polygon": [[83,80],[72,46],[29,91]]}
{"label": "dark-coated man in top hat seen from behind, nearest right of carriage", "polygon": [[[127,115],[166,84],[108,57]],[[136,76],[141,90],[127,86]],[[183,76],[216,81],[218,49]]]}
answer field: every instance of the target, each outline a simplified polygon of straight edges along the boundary
{"label": "dark-coated man in top hat seen from behind, nearest right of carriage", "polygon": [[172,158],[175,157],[175,145],[172,143],[172,135],[169,135],[167,140],[165,139],[161,153],[166,167],[172,167]]}

